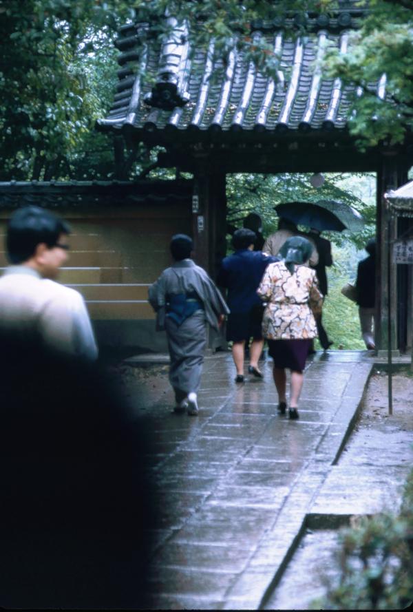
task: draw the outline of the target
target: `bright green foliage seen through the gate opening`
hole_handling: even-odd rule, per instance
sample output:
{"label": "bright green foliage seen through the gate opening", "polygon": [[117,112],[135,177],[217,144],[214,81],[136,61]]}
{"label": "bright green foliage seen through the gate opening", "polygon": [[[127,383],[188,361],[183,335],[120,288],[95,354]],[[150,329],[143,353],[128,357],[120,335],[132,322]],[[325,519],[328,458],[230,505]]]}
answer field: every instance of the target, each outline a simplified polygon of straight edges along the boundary
{"label": "bright green foliage seen through the gate opening", "polygon": [[[332,348],[364,350],[361,339],[359,310],[354,302],[341,294],[341,287],[354,282],[357,263],[367,256],[363,247],[375,234],[375,178],[371,174],[326,175],[322,187],[310,184],[309,174],[233,174],[227,176],[228,222],[232,229],[242,227],[242,220],[249,212],[262,218],[264,238],[276,231],[277,213],[274,207],[282,202],[301,200],[338,200],[357,209],[366,219],[363,231],[352,234],[324,232],[332,243],[333,266],[327,269],[328,297],[324,302],[323,324],[328,337],[334,341]],[[308,228],[301,227],[303,231]],[[227,247],[231,252],[231,236],[227,235]],[[345,321],[345,324],[343,324]],[[315,348],[320,348],[316,341]]]}

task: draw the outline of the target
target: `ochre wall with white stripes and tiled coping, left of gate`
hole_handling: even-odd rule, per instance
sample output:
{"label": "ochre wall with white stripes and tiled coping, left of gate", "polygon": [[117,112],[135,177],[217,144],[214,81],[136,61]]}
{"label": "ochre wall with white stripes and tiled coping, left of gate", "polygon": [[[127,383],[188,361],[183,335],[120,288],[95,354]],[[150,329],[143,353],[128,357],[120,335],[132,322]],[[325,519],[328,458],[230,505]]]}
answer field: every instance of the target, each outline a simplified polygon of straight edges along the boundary
{"label": "ochre wall with white stripes and tiled coping, left of gate", "polygon": [[[169,266],[173,233],[191,232],[191,181],[0,182],[0,234],[17,207],[56,211],[71,226],[59,279],[85,297],[100,346],[166,350],[148,286]],[[0,251],[0,266],[6,266]]]}

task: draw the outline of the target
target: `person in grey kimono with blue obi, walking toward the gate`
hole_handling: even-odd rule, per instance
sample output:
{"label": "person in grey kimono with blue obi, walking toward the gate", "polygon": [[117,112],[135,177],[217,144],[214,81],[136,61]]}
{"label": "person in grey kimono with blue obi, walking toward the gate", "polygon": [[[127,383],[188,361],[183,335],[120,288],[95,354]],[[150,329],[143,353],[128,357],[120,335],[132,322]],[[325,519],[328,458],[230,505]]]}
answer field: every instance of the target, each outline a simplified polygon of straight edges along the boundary
{"label": "person in grey kimono with blue obi, walking toward the gate", "polygon": [[156,311],[157,329],[167,333],[174,410],[195,416],[207,346],[206,322],[218,330],[229,308],[207,272],[191,259],[189,236],[174,235],[170,250],[173,264],[149,286],[149,304]]}

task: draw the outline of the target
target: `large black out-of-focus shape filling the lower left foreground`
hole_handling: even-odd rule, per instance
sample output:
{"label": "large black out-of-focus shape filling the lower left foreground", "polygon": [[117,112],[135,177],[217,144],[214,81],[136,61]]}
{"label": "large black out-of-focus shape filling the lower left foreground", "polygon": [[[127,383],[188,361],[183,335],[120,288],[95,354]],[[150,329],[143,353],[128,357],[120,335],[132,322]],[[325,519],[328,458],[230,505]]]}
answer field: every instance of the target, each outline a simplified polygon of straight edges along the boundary
{"label": "large black out-of-focus shape filling the lower left foreground", "polygon": [[145,609],[148,442],[96,364],[0,342],[0,606]]}

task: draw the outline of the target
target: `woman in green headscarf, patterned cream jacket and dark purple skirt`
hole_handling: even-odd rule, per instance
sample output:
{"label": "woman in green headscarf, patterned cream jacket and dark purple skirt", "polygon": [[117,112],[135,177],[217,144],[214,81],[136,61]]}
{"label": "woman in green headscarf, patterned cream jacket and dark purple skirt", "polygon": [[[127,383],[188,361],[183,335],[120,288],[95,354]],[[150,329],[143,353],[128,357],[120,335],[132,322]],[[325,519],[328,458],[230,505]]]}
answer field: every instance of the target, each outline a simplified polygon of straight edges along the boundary
{"label": "woman in green headscarf, patterned cream jacket and dark purple skirt", "polygon": [[288,238],[280,255],[270,264],[257,289],[267,302],[262,321],[268,354],[273,358],[273,377],[278,393],[278,410],[286,412],[286,368],[291,371],[290,419],[298,419],[299,396],[304,381],[304,367],[311,339],[317,337],[314,314],[321,311],[323,296],[315,270],[306,264],[313,246],[301,236]]}

